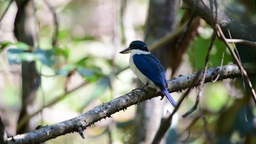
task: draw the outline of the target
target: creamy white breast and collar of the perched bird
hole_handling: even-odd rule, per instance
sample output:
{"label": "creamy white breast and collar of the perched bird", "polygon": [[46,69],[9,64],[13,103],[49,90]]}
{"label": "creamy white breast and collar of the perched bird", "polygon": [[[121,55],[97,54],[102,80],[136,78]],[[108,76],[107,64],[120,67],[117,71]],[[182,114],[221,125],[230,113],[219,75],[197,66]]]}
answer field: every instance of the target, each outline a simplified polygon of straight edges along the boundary
{"label": "creamy white breast and collar of the perched bird", "polygon": [[134,54],[150,54],[150,52],[142,51],[142,50],[137,50],[133,49],[130,55],[130,60],[129,60],[129,65],[134,74],[142,81],[143,84],[146,84],[148,82],[148,86],[155,88],[157,90],[160,90],[159,87],[154,84],[151,80],[149,80],[142,72],[139,71],[139,69],[135,66],[134,64]]}

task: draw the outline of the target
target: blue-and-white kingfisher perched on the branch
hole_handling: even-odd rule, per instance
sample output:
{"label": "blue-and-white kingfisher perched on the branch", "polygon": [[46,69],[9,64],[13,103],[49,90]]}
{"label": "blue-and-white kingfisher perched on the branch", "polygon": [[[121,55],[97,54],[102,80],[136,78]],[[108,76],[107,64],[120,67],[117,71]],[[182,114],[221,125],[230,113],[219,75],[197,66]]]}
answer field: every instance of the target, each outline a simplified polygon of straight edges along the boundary
{"label": "blue-and-white kingfisher perched on the branch", "polygon": [[[145,86],[137,89],[143,90],[146,86],[149,86],[160,90],[171,102],[171,105],[174,108],[177,107],[177,103],[167,90],[168,83],[162,64],[149,52],[143,41],[132,41],[128,48],[123,49],[119,53],[131,53],[129,59],[130,68],[142,83],[145,84]],[[161,99],[163,99],[163,97]]]}

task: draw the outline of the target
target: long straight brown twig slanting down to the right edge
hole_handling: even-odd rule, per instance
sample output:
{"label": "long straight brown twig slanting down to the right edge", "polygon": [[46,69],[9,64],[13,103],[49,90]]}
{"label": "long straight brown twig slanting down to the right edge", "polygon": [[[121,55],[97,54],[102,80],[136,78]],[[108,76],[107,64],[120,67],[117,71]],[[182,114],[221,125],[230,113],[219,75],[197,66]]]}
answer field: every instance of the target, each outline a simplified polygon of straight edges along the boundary
{"label": "long straight brown twig slanting down to the right edge", "polygon": [[229,43],[226,41],[226,37],[224,36],[224,34],[223,34],[223,32],[222,32],[222,30],[221,30],[219,24],[217,25],[217,30],[219,31],[219,34],[220,34],[222,40],[224,41],[224,43],[226,44],[226,46],[229,48],[229,51],[230,51],[230,53],[231,53],[233,59],[235,60],[236,64],[238,65],[238,67],[239,67],[241,73],[244,74],[243,78],[244,78],[244,80],[246,81],[246,84],[248,85],[248,87],[249,87],[249,89],[250,89],[250,92],[251,92],[251,95],[252,95],[252,97],[253,97],[253,100],[254,100],[254,102],[255,102],[255,104],[256,104],[256,94],[255,94],[255,91],[254,91],[254,89],[253,89],[252,83],[251,83],[251,81],[250,81],[250,79],[249,79],[249,77],[248,77],[248,75],[247,75],[247,72],[244,70],[244,68],[243,68],[243,66],[242,66],[242,64],[241,64],[241,62],[238,60],[237,56],[235,55],[234,50],[231,48],[231,46],[229,45]]}

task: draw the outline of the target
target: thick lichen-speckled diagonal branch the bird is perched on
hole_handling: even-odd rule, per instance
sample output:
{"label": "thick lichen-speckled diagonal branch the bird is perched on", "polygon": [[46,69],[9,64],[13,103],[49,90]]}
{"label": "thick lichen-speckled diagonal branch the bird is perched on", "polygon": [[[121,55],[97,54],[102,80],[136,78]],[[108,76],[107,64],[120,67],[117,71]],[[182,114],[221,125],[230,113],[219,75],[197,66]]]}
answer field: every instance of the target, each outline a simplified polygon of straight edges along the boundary
{"label": "thick lichen-speckled diagonal branch the bird is perched on", "polygon": [[[249,76],[256,76],[256,63],[244,63],[243,67]],[[218,73],[219,80],[241,77],[241,72],[238,66],[235,64],[223,66],[222,70],[219,70],[220,67],[208,68],[206,72],[205,83],[211,82],[212,79],[215,79]],[[182,90],[187,89],[196,73],[197,72],[194,72],[192,74],[180,76],[168,81],[169,92],[181,92]],[[202,79],[202,73],[203,71],[201,71],[199,75],[199,80]],[[199,83],[195,85],[199,85]],[[156,93],[156,91],[150,87],[147,87],[146,90],[148,92],[147,94],[139,90],[132,91],[107,103],[103,103],[102,105],[95,107],[71,120],[66,120],[54,125],[41,127],[37,131],[13,136],[8,138],[8,144],[38,144],[49,139],[64,135],[66,133],[81,132],[79,129],[82,128],[82,130],[85,130],[91,124],[94,124],[99,120],[106,119],[107,117],[111,117],[112,114],[122,109],[126,109],[134,104],[138,104],[156,96],[162,96],[161,92]]]}

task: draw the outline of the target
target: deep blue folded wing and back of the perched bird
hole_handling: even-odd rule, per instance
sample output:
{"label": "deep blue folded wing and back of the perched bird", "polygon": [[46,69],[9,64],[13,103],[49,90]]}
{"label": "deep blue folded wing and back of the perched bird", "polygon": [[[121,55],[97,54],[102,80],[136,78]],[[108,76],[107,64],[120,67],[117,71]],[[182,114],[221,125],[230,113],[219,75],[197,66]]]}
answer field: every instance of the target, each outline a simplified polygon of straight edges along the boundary
{"label": "deep blue folded wing and back of the perched bird", "polygon": [[133,57],[135,66],[142,72],[148,79],[157,84],[161,90],[168,86],[164,68],[160,61],[152,54],[138,55]]}

